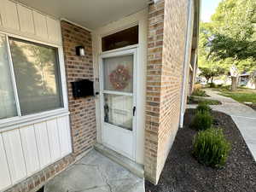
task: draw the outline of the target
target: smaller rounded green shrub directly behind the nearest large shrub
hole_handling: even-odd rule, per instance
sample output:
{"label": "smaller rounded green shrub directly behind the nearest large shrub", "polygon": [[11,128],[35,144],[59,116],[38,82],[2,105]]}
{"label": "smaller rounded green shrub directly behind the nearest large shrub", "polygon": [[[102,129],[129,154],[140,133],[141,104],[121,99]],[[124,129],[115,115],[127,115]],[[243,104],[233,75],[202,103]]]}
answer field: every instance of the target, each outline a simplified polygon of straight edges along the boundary
{"label": "smaller rounded green shrub directly behind the nearest large shrub", "polygon": [[191,128],[201,131],[212,127],[212,115],[209,112],[197,112],[190,125]]}

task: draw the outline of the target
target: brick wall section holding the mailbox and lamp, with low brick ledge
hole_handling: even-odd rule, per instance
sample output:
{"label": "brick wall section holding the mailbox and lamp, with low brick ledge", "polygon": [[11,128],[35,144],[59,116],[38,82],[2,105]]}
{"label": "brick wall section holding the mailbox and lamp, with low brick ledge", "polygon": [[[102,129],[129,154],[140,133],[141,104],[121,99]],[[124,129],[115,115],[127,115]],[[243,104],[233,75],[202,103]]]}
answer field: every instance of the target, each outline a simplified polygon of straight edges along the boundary
{"label": "brick wall section holding the mailbox and lamp, with low brick ledge", "polygon": [[[61,21],[61,32],[67,75],[68,106],[70,111],[73,154],[68,155],[32,177],[17,183],[6,192],[31,192],[40,189],[49,179],[67,169],[79,154],[86,153],[96,143],[96,112],[93,97],[74,99],[71,82],[79,79],[93,80],[92,42],[90,32]],[[75,47],[84,45],[85,56],[75,55]],[[0,181],[1,182],[1,181]]]}

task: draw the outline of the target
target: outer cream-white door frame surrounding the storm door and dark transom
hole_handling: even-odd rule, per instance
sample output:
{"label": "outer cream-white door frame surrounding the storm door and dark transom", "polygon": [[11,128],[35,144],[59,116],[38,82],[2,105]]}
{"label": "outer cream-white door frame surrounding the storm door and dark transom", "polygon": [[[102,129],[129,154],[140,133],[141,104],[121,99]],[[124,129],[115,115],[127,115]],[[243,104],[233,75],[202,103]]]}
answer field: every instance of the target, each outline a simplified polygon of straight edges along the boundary
{"label": "outer cream-white door frame surrounding the storm door and dark transom", "polygon": [[[94,63],[95,90],[100,92],[100,55],[102,55],[102,38],[120,32],[131,26],[139,26],[139,42],[137,44],[137,148],[136,162],[144,164],[145,122],[146,122],[146,79],[148,59],[148,8],[135,14],[115,20],[106,26],[92,31],[92,49]],[[96,131],[97,143],[102,143],[102,122],[100,96],[96,96]]]}

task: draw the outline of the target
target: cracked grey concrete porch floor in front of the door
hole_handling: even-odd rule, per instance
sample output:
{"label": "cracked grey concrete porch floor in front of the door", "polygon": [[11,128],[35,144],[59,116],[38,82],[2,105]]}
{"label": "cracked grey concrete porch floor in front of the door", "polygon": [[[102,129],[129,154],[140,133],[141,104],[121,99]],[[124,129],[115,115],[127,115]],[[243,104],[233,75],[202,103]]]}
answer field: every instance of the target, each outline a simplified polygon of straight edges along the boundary
{"label": "cracked grey concrete porch floor in front of the door", "polygon": [[44,192],[144,192],[144,180],[91,150],[44,186]]}

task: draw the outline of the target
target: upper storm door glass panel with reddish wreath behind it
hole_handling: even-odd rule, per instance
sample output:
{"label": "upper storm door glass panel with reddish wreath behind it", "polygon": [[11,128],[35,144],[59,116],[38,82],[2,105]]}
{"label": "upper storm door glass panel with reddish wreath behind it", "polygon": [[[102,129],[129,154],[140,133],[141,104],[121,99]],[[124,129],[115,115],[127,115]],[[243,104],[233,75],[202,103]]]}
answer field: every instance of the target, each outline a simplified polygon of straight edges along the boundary
{"label": "upper storm door glass panel with reddish wreath behind it", "polygon": [[103,59],[104,90],[132,92],[133,55]]}

